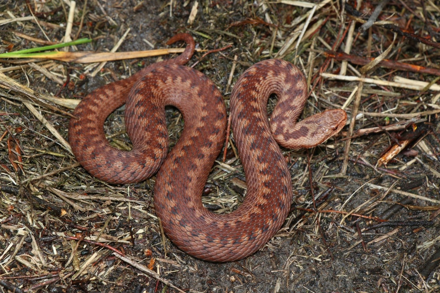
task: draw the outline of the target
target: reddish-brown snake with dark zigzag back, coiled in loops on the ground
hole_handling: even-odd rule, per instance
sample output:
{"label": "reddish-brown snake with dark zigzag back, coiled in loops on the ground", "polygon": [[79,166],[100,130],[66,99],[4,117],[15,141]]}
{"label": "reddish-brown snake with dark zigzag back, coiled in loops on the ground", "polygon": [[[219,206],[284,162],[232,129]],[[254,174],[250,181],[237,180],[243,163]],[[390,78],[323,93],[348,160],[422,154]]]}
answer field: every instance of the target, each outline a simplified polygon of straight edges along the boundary
{"label": "reddish-brown snake with dark zigzag back, coiled in loops on the ground", "polygon": [[[290,172],[276,141],[288,148],[319,145],[344,127],[347,116],[341,109],[327,110],[296,123],[307,99],[299,69],[283,60],[260,61],[247,69],[231,94],[246,199],[231,213],[211,213],[201,195],[224,145],[226,110],[216,86],[201,72],[182,66],[194,51],[192,37],[179,34],[169,43],[176,40],[187,43],[179,57],[85,97],[73,112],[79,119],[70,120],[70,145],[88,172],[110,183],[143,181],[157,172],[154,206],[169,239],[194,257],[238,260],[264,246],[290,210]],[[271,94],[278,103],[269,124]],[[109,146],[103,132],[106,117],[124,103],[131,152]],[[165,105],[179,109],[185,123],[168,155]]]}

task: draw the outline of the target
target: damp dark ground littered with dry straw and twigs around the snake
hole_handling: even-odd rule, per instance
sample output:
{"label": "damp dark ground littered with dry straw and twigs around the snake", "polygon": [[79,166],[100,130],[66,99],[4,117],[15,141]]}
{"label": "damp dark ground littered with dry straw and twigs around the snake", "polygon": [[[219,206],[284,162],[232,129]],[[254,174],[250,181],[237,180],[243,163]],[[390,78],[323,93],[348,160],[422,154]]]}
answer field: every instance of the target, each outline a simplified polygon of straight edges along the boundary
{"label": "damp dark ground littered with dry straw and twigs around the snake", "polygon": [[[57,58],[0,60],[2,292],[439,292],[438,0],[6,0],[0,30],[0,53],[92,40]],[[191,62],[227,105],[244,69],[283,58],[307,78],[303,117],[348,113],[324,145],[283,150],[291,213],[262,251],[235,263],[178,250],[155,216],[154,177],[98,181],[66,141],[79,99],[153,62],[139,51],[177,32],[213,50]],[[106,63],[116,51],[133,59]],[[183,122],[167,115],[173,144]],[[130,148],[122,111],[105,128]],[[215,213],[246,195],[234,144],[232,134],[206,184]]]}

